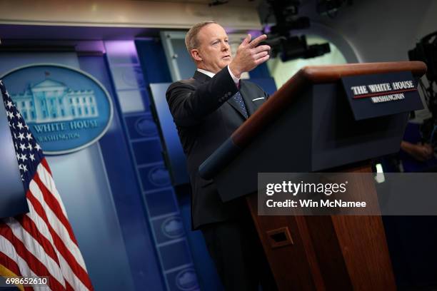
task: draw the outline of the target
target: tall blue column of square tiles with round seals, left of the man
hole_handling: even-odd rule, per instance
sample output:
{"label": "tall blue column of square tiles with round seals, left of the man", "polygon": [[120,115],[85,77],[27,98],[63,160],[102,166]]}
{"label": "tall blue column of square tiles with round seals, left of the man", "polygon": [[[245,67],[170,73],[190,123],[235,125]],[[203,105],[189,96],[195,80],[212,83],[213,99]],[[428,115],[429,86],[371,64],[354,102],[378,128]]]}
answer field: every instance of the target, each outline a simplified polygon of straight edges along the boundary
{"label": "tall blue column of square tiles with round seals, left of the man", "polygon": [[[162,47],[153,40],[142,42],[141,47],[147,51],[146,58],[141,58],[142,70],[139,69],[134,41],[106,41],[105,47],[111,71],[112,68],[117,71],[113,77],[117,78],[114,86],[121,105],[120,114],[128,133],[134,170],[152,230],[154,251],[159,258],[159,271],[164,278],[164,286],[146,287],[148,290],[158,290],[159,287],[173,290],[174,286],[180,286],[179,290],[199,290],[196,273],[190,272],[193,262],[189,247],[178,247],[186,234],[179,218],[179,205],[171,188],[169,173],[162,159],[156,124],[148,106],[149,80],[166,78],[165,63],[159,59]],[[133,72],[136,76],[131,76]],[[131,79],[136,81],[130,82]],[[163,236],[168,240],[162,242],[159,238]],[[171,260],[171,257],[183,260]],[[169,276],[173,272],[181,272],[182,275]],[[184,289],[187,286],[189,289]]]}

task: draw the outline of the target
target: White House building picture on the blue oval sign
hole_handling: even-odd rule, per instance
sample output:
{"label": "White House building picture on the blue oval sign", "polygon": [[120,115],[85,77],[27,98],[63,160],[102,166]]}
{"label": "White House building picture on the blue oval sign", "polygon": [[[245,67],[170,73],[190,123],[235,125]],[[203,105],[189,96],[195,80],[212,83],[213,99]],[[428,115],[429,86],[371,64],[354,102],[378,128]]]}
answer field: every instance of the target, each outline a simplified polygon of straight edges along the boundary
{"label": "White House building picture on the blue oval sign", "polygon": [[49,78],[11,94],[27,123],[70,121],[99,116],[94,90],[71,90]]}

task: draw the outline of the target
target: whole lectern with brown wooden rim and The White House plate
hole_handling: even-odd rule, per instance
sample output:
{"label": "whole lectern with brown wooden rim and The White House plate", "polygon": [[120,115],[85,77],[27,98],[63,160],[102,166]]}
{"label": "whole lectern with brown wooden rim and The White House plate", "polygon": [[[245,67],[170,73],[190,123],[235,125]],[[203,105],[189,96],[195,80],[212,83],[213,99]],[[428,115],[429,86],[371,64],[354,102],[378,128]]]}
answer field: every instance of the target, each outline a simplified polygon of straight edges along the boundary
{"label": "whole lectern with brown wooden rim and The White House plate", "polygon": [[[417,86],[425,71],[418,61],[302,68],[199,167],[223,201],[246,196],[279,290],[396,290],[381,216],[259,216],[257,180],[258,173],[371,173],[372,158],[399,150],[409,111],[421,101],[356,101],[378,93],[350,96],[349,79],[409,74]],[[357,185],[357,195],[376,198],[373,183]]]}

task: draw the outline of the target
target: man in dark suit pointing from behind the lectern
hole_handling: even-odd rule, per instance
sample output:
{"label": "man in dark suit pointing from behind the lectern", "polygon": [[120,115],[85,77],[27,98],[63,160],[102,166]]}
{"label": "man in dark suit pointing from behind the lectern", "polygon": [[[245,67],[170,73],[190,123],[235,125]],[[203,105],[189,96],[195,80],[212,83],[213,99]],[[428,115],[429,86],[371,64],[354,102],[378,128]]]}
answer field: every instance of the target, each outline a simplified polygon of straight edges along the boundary
{"label": "man in dark suit pointing from behind the lectern", "polygon": [[[194,77],[169,87],[166,98],[189,170],[195,229],[200,228],[226,290],[271,290],[271,272],[243,200],[223,203],[213,180],[199,176],[199,165],[241,126],[268,95],[241,73],[268,60],[266,36],[243,40],[231,56],[228,36],[214,21],[193,26],[186,47],[197,66]],[[273,285],[272,285],[273,284]]]}

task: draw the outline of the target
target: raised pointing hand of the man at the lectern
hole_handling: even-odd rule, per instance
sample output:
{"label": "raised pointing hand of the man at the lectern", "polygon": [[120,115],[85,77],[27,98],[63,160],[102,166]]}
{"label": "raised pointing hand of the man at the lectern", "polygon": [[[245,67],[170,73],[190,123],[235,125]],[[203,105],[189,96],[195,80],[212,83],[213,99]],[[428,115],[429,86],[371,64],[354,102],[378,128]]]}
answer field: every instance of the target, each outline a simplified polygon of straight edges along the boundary
{"label": "raised pointing hand of the man at the lectern", "polygon": [[252,36],[248,34],[246,39],[241,42],[240,46],[236,51],[236,56],[233,58],[231,63],[229,63],[229,68],[234,76],[240,78],[241,73],[248,72],[256,68],[260,63],[268,60],[268,51],[270,51],[270,46],[261,45],[258,46],[261,41],[267,39],[267,36],[263,34],[258,36],[256,39],[251,41]]}

